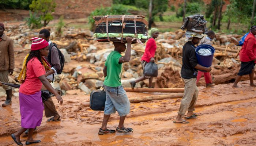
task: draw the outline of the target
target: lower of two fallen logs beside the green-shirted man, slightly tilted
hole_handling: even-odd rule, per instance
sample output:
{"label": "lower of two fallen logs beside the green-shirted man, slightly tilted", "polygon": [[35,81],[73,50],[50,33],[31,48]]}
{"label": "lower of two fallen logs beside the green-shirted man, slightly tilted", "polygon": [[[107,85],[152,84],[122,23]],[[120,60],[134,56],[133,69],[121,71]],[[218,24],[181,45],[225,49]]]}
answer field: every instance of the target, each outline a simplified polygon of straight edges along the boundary
{"label": "lower of two fallen logs beside the green-shirted man, slightly tilted", "polygon": [[182,98],[183,93],[167,94],[167,95],[153,95],[153,96],[141,96],[141,97],[131,97],[129,101],[131,103],[147,102],[150,100],[162,100],[162,99],[173,99]]}

